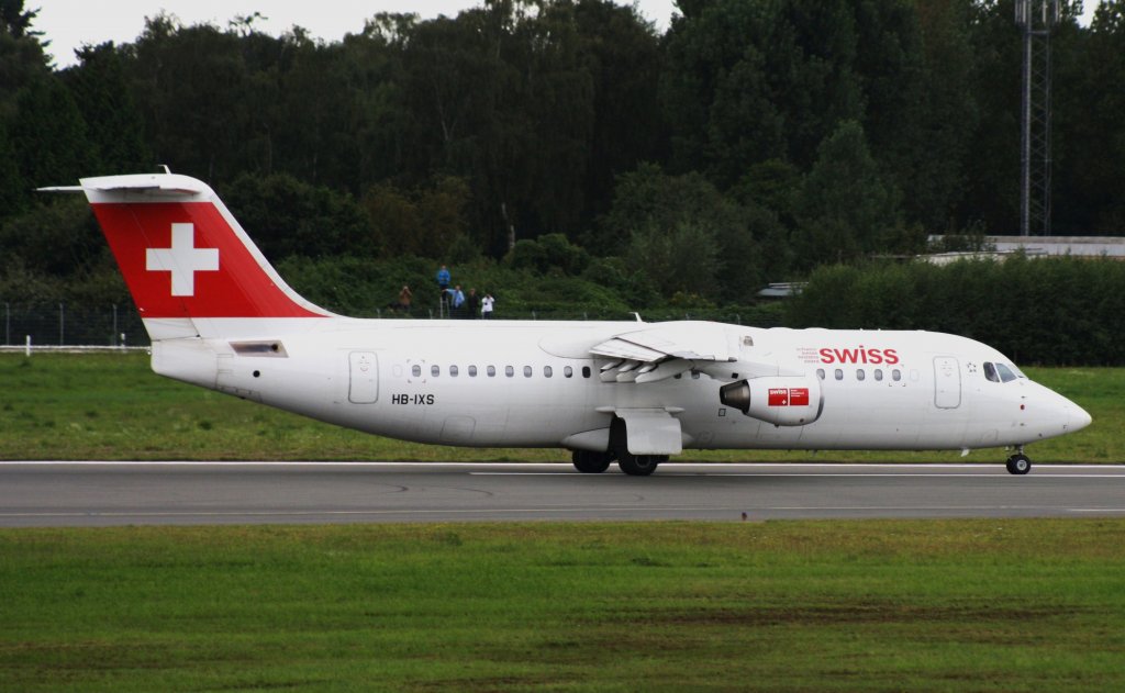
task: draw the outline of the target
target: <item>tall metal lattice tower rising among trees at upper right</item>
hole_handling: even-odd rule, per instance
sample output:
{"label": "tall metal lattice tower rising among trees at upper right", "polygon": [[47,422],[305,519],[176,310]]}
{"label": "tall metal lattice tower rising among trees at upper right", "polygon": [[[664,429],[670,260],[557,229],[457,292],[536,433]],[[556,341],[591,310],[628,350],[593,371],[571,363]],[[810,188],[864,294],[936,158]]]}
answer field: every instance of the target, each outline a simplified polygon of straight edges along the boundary
{"label": "tall metal lattice tower rising among trees at upper right", "polygon": [[1020,235],[1051,235],[1051,30],[1059,0],[1016,0],[1024,30],[1020,109]]}

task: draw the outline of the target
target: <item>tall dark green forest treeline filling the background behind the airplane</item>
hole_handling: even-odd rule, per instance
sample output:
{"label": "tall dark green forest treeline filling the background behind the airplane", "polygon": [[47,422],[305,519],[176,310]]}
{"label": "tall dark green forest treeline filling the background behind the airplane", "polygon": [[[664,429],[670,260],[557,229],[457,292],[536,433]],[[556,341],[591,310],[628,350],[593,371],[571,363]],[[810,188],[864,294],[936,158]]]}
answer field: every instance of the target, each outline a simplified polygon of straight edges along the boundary
{"label": "tall dark green forest treeline filling the background behind the airplane", "polygon": [[[486,0],[335,43],[158,15],[57,70],[0,0],[0,296],[118,302],[83,205],[34,189],[156,163],[360,314],[438,262],[502,305],[740,308],[927,234],[1016,228],[1012,0],[678,6],[662,34],[609,0]],[[1125,1],[1089,27],[1062,6],[1054,227],[1118,235]]]}

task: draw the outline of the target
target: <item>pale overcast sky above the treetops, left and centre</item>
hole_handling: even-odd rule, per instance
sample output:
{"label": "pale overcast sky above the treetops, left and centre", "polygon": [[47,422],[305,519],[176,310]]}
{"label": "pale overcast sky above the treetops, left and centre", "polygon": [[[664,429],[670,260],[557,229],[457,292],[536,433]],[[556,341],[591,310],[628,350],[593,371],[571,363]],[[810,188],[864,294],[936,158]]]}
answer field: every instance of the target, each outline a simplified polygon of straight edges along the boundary
{"label": "pale overcast sky above the treetops, left and centre", "polygon": [[[628,4],[621,2],[620,4]],[[416,12],[423,18],[439,15],[456,17],[459,11],[479,7],[482,0],[27,0],[27,8],[39,8],[32,25],[50,40],[47,53],[56,68],[73,65],[74,48],[107,40],[132,43],[144,29],[144,18],[161,9],[186,25],[210,21],[226,27],[236,15],[261,12],[268,20],[254,22],[274,36],[294,25],[308,29],[327,42],[344,34],[358,34],[363,21],[378,12]],[[675,9],[673,0],[639,0],[641,15],[659,30],[668,28]]]}

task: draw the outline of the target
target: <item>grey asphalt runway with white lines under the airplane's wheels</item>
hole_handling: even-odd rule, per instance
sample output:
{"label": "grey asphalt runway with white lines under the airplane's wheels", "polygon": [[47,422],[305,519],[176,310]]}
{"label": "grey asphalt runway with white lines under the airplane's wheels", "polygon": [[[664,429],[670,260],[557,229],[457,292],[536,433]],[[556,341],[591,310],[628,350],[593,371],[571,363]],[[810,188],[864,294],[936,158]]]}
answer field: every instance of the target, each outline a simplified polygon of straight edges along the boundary
{"label": "grey asphalt runway with white lines under the airplane's wheels", "polygon": [[1125,466],[0,462],[0,526],[1125,515]]}

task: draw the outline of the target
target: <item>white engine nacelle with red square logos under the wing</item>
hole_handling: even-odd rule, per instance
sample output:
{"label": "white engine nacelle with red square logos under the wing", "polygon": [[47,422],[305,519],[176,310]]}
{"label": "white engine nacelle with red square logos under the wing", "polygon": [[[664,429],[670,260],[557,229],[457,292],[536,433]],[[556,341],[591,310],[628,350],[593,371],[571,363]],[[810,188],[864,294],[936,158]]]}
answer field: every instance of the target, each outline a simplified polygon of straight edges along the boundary
{"label": "white engine nacelle with red square logos under the wing", "polygon": [[803,426],[820,418],[825,408],[816,376],[765,376],[719,388],[719,402],[747,416],[777,426]]}

